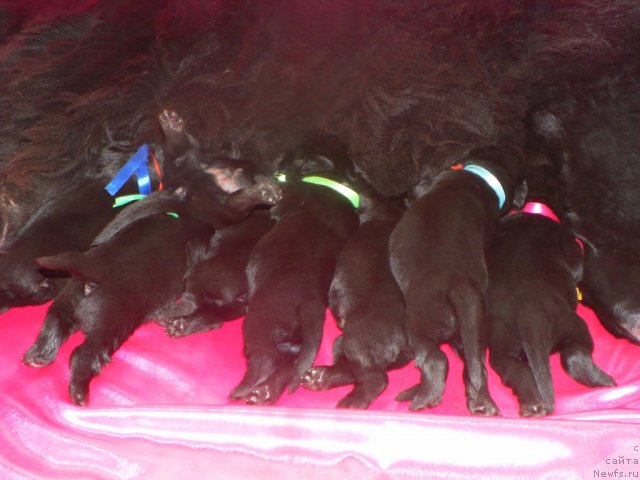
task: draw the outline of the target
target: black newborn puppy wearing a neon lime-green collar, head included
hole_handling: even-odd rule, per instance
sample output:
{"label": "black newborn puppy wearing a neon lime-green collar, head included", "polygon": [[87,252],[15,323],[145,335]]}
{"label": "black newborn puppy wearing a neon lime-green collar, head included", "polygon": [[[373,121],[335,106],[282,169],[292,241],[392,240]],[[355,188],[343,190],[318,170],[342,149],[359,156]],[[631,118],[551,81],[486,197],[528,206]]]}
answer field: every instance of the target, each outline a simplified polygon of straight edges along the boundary
{"label": "black newborn puppy wearing a neon lime-green collar, head included", "polygon": [[[283,198],[271,209],[278,223],[247,265],[247,369],[230,396],[255,404],[275,402],[287,386],[295,390],[311,367],[336,258],[357,226],[354,205],[334,189],[353,169],[338,139],[312,139],[285,155],[280,168],[286,175]],[[333,180],[333,188],[307,183],[318,177]]]}

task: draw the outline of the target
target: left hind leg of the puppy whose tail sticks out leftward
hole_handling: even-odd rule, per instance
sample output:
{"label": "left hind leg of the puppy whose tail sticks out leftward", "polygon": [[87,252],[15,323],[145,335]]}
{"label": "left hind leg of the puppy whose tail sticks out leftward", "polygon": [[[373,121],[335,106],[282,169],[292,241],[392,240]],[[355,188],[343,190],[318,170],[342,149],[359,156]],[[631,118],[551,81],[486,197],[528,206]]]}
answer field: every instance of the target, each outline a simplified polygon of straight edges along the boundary
{"label": "left hind leg of the puppy whose tail sticks out leftward", "polygon": [[60,345],[77,330],[66,306],[59,306],[55,301],[49,307],[40,333],[35,343],[27,350],[22,361],[31,367],[49,365],[58,355]]}

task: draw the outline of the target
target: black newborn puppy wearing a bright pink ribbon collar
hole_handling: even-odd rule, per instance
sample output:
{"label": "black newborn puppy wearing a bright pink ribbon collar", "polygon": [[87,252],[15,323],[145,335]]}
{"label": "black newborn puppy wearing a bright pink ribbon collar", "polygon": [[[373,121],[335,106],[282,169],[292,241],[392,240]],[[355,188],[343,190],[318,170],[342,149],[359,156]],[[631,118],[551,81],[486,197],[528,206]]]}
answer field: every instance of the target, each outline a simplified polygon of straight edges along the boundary
{"label": "black newborn puppy wearing a bright pink ribbon collar", "polygon": [[518,397],[523,417],[554,410],[553,352],[578,382],[615,385],[593,363],[593,340],[575,311],[582,250],[556,216],[562,203],[555,178],[543,167],[528,178],[527,203],[502,218],[487,252],[489,362]]}

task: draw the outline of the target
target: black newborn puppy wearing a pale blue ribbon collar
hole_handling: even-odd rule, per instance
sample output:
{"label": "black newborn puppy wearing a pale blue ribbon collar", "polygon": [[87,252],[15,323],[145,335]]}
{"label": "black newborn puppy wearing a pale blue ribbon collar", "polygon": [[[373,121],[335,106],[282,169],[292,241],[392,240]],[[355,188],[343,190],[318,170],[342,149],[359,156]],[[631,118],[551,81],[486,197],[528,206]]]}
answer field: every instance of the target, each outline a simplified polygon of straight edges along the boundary
{"label": "black newborn puppy wearing a pale blue ribbon collar", "polygon": [[[390,238],[391,271],[407,309],[407,332],[420,383],[398,396],[417,410],[438,405],[449,342],[464,360],[467,408],[499,413],[487,388],[485,248],[522,182],[522,159],[496,146],[469,152],[463,170],[419,185]],[[476,173],[474,173],[476,172]]]}

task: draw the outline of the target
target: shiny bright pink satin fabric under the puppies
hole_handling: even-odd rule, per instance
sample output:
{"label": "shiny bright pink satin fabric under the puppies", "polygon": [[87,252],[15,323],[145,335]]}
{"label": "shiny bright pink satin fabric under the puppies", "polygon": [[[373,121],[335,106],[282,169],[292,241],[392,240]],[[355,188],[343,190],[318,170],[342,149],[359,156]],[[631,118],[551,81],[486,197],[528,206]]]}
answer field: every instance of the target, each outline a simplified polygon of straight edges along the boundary
{"label": "shiny bright pink satin fabric under the puppies", "polygon": [[[411,365],[393,372],[368,411],[334,409],[348,392],[298,390],[274,407],[229,404],[244,360],[240,321],[183,339],[141,328],[91,384],[88,407],[67,394],[74,335],[43,369],[20,358],[46,306],[0,316],[0,478],[492,478],[640,476],[640,350],[611,337],[582,308],[596,362],[618,387],[588,389],[552,358],[557,413],[525,420],[490,372],[502,418],[465,409],[460,361],[443,405],[409,412],[393,398],[417,381]],[[317,363],[337,334],[328,319]]]}

